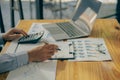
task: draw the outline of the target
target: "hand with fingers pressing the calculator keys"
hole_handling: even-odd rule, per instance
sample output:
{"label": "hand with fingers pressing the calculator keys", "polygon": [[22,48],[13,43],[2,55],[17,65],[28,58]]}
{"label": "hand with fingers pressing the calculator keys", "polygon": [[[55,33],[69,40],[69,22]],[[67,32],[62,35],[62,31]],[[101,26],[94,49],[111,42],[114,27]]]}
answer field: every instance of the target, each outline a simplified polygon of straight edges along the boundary
{"label": "hand with fingers pressing the calculator keys", "polygon": [[4,40],[14,40],[21,36],[27,36],[27,33],[23,31],[22,29],[12,28],[9,31],[7,31],[5,34],[2,35]]}

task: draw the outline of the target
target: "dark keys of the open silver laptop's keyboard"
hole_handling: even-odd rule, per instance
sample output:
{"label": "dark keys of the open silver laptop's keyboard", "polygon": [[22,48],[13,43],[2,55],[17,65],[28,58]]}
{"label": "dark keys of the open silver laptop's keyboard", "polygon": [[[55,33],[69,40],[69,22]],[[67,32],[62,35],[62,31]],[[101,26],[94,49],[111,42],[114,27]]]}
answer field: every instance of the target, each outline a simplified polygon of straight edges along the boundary
{"label": "dark keys of the open silver laptop's keyboard", "polygon": [[81,34],[83,34],[69,22],[56,23],[56,24],[61,29],[63,29],[68,34],[69,37],[80,36]]}

